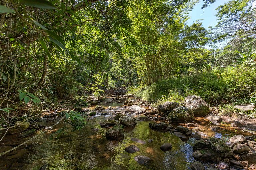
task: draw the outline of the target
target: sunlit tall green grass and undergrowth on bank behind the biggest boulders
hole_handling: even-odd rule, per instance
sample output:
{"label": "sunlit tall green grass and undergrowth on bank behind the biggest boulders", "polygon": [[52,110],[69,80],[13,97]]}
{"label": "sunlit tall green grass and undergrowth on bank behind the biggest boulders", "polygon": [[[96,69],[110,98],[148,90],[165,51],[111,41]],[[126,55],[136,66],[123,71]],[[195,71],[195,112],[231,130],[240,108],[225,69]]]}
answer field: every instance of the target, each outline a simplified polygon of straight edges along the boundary
{"label": "sunlit tall green grass and undergrowth on bank behind the biggest boulders", "polygon": [[183,101],[186,96],[201,96],[209,105],[244,104],[256,89],[255,70],[247,72],[226,67],[180,75],[151,86],[130,87],[129,92],[150,102]]}

